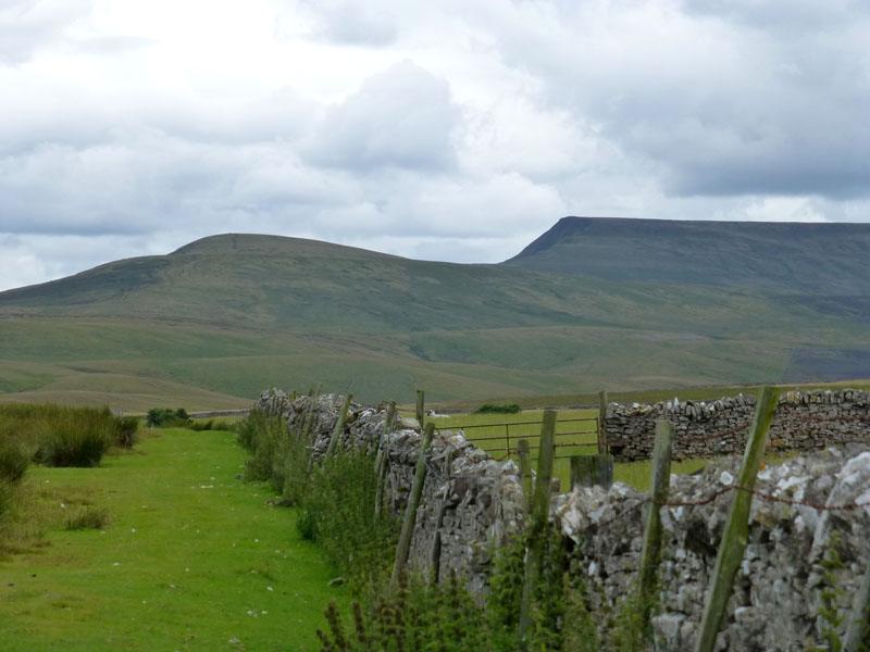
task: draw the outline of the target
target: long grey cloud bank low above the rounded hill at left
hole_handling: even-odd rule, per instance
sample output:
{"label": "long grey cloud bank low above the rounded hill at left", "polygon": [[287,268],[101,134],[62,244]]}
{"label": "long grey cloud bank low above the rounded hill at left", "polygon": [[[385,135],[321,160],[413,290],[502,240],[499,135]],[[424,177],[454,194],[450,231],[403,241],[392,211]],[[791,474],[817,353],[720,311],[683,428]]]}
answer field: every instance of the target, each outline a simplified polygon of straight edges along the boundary
{"label": "long grey cloud bank low above the rounded hill at left", "polygon": [[0,233],[284,233],[360,195],[344,174],[304,166],[281,142],[203,143],[156,129],[120,136],[0,159]]}

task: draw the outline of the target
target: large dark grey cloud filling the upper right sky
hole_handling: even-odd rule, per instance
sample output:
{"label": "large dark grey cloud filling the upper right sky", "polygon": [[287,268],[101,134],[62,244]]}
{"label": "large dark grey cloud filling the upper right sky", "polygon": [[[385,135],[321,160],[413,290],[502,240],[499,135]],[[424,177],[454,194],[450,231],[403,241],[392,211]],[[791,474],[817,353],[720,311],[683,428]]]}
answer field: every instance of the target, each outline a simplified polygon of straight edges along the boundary
{"label": "large dark grey cloud filling the upper right sky", "polygon": [[[667,191],[870,195],[867,10],[836,2],[836,20],[816,32],[781,26],[758,9],[766,3],[724,3],[733,9],[721,14],[744,17],[731,22],[708,20],[713,5],[703,1],[682,14],[602,4],[605,22],[592,10],[517,9],[499,27],[501,54],[535,75],[551,104],[655,162]],[[816,8],[826,3],[799,2],[791,20],[812,25]]]}

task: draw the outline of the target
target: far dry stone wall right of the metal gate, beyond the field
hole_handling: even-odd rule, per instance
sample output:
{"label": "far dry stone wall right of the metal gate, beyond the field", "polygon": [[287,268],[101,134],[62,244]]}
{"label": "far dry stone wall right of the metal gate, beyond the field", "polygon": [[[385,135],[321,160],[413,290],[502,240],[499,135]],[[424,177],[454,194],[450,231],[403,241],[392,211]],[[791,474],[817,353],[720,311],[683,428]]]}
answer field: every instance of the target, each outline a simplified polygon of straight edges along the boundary
{"label": "far dry stone wall right of the metal gate, beyond the field", "polygon": [[[755,412],[754,396],[717,401],[679,400],[652,405],[617,405],[607,411],[610,451],[619,461],[652,455],[656,419],[675,427],[673,455],[712,457],[742,453]],[[792,391],[780,398],[769,444],[780,451],[821,450],[870,442],[870,394],[863,390]]]}

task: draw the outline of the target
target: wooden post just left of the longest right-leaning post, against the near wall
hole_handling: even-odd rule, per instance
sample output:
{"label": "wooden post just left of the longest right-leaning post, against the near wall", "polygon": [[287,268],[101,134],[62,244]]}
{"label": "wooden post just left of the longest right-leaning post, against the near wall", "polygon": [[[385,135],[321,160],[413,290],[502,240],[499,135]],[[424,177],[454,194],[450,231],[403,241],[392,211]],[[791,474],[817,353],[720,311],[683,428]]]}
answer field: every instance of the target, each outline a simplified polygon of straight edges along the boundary
{"label": "wooden post just left of the longest right-leaning post, against the near wall", "polygon": [[643,626],[649,622],[652,609],[652,593],[658,580],[661,557],[661,506],[668,502],[671,479],[671,448],[673,447],[673,424],[669,421],[656,422],[656,448],[652,451],[652,477],[649,481],[649,512],[644,532],[644,548],[641,553],[641,609]]}

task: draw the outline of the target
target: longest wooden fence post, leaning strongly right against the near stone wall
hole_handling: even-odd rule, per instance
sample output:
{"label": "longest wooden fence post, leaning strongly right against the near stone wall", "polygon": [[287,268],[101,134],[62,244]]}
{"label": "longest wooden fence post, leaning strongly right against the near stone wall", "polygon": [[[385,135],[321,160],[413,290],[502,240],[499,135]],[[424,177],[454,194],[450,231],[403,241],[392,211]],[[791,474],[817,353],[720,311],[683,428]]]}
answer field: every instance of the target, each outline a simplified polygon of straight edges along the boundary
{"label": "longest wooden fence post, leaning strongly right against the near stone wall", "polygon": [[734,587],[734,576],[746,552],[749,536],[749,509],[753,505],[751,490],[758,476],[761,459],[765,456],[768,430],[776,412],[780,390],[774,387],[765,387],[758,398],[758,404],[753,417],[753,429],[746,442],[746,452],[743,455],[743,466],[737,477],[741,489],[734,491],[731,503],[728,525],[719,543],[719,553],[716,557],[716,567],[712,574],[712,586],[707,594],[704,607],[704,617],[700,622],[696,652],[712,652],[716,638],[725,615],[728,600]]}

